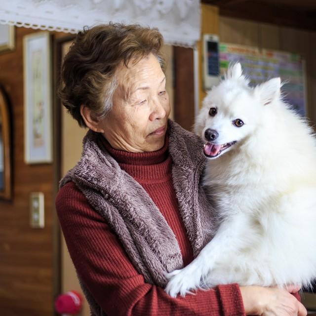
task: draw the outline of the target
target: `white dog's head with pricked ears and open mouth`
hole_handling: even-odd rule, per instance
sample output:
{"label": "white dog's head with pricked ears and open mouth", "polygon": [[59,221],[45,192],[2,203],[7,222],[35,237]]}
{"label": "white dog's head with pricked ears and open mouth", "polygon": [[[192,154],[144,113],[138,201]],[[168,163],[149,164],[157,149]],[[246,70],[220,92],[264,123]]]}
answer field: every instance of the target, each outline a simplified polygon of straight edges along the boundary
{"label": "white dog's head with pricked ears and open mouth", "polygon": [[240,64],[230,68],[227,79],[208,93],[197,116],[195,131],[204,142],[204,155],[218,158],[251,136],[262,124],[265,105],[279,97],[279,89],[279,79],[251,88]]}

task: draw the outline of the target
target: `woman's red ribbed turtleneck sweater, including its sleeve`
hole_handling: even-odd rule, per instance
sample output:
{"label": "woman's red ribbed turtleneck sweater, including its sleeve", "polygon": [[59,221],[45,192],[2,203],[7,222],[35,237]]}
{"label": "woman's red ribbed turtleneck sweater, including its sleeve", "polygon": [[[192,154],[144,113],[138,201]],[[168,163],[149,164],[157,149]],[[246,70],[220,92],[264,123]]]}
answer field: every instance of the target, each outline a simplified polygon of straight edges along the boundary
{"label": "woman's red ribbed turtleneck sweater, including its sleeve", "polygon": [[[184,264],[190,263],[193,251],[173,189],[167,140],[163,148],[151,153],[118,151],[106,140],[102,143],[153,199],[179,242]],[[174,299],[162,288],[145,283],[118,237],[73,182],[59,191],[56,209],[77,273],[107,315],[244,315],[236,284]]]}

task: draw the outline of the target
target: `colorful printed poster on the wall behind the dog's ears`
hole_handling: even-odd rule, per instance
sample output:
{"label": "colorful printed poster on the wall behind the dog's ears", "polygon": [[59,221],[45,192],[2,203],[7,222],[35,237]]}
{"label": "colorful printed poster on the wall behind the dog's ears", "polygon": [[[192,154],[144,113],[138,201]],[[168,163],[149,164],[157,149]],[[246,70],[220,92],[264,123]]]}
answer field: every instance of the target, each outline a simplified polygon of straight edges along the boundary
{"label": "colorful printed poster on the wall behind the dog's ears", "polygon": [[240,62],[244,74],[255,85],[280,77],[284,82],[284,100],[301,116],[306,115],[307,100],[304,60],[301,55],[276,50],[262,50],[237,44],[220,44],[220,67],[223,75],[230,63]]}

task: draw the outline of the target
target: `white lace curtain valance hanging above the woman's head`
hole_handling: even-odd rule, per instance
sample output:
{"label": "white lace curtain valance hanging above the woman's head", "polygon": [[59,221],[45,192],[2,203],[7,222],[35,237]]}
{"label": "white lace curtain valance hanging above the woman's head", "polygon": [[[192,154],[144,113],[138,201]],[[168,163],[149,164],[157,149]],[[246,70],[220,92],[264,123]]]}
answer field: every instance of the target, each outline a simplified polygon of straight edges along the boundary
{"label": "white lace curtain valance hanging above the woman's head", "polygon": [[1,0],[0,23],[77,33],[99,23],[158,27],[168,44],[191,46],[200,36],[199,0]]}

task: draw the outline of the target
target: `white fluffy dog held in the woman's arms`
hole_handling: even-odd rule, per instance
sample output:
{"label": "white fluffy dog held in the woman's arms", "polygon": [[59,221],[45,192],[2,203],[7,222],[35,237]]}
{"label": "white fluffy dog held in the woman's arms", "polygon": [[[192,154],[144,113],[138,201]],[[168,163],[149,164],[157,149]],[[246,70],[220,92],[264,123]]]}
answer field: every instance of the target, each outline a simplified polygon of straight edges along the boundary
{"label": "white fluffy dog held in the woman's arms", "polygon": [[203,102],[196,132],[215,237],[166,292],[206,285],[308,285],[316,277],[316,141],[280,97],[279,78],[248,86],[240,64]]}

